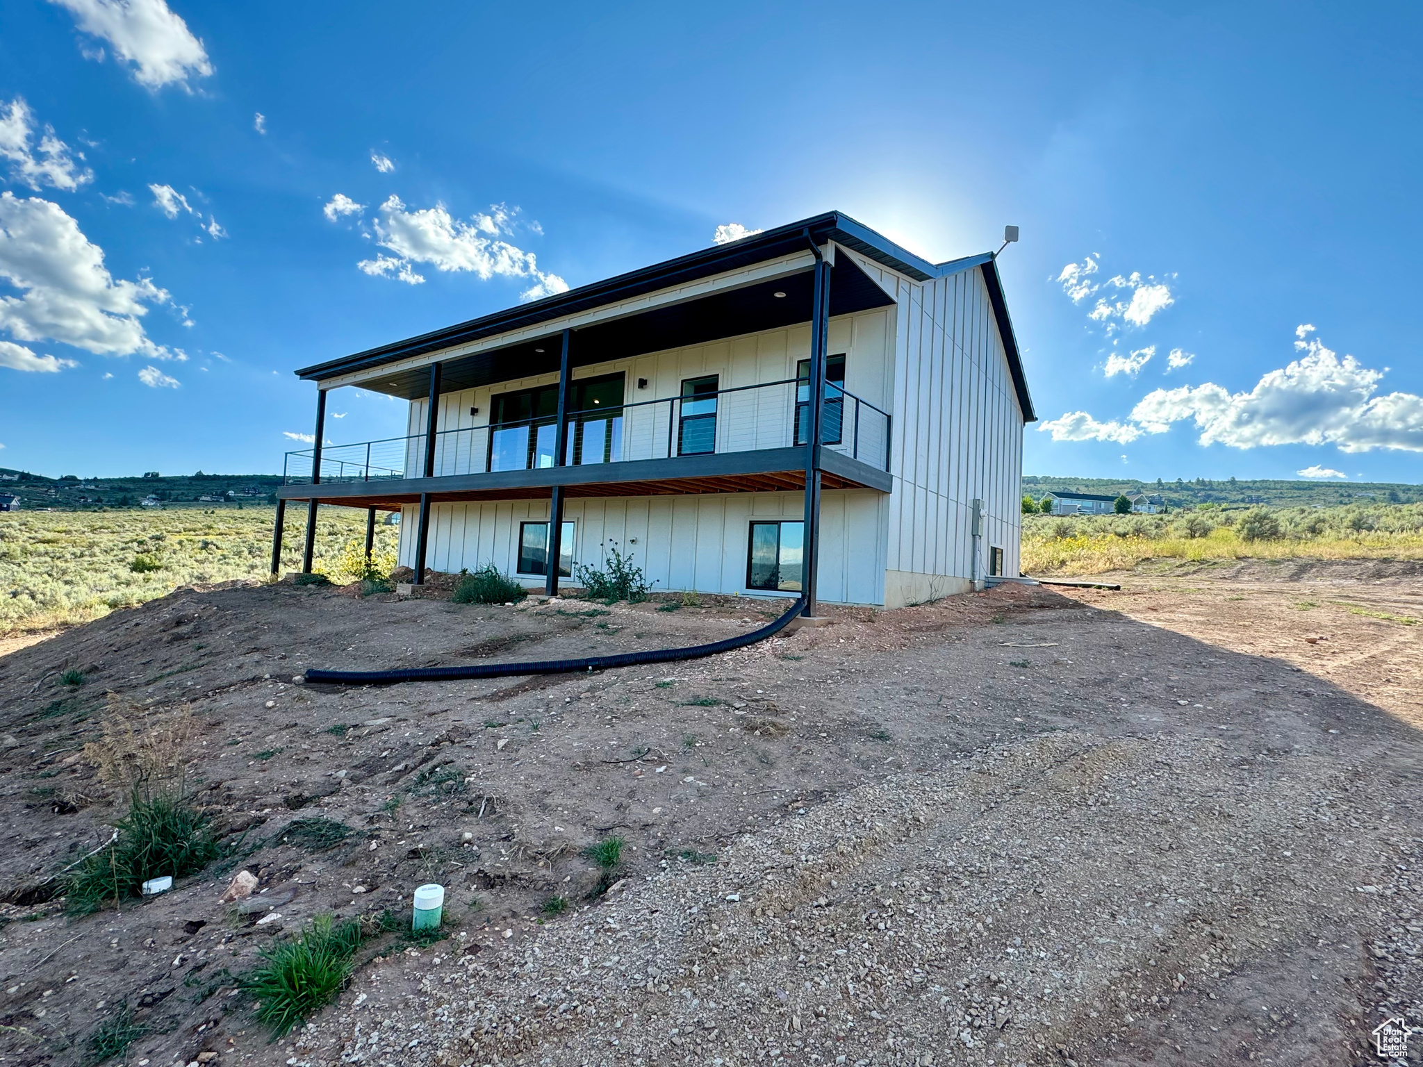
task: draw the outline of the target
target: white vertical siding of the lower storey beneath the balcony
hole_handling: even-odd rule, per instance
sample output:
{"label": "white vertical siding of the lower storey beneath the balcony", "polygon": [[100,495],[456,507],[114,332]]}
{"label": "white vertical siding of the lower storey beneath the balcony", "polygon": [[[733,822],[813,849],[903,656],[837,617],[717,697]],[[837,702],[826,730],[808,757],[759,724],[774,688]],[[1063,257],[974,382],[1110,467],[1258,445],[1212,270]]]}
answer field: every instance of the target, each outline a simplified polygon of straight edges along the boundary
{"label": "white vertical siding of the lower storey beneath the balcony", "polygon": [[[884,603],[888,498],[872,489],[834,489],[821,498],[820,598],[837,603]],[[400,565],[414,566],[418,506],[400,518]],[[444,573],[494,563],[529,586],[544,579],[517,573],[521,522],[548,522],[546,501],[435,504],[430,511],[427,566]],[[696,497],[579,497],[565,501],[573,524],[573,562],[602,568],[608,549],[630,555],[655,590],[753,593],[746,563],[753,521],[800,521],[800,492],[729,492]],[[565,579],[566,580],[566,579]]]}

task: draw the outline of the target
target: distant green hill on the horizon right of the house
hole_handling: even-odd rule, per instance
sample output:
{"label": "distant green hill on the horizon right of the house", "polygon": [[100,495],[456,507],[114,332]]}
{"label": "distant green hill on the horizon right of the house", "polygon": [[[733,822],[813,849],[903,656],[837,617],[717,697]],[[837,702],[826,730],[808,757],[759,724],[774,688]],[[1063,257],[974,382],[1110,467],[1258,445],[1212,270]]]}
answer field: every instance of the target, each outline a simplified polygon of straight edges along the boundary
{"label": "distant green hill on the horizon right of the house", "polygon": [[1212,481],[1197,478],[1194,481],[1177,479],[1174,482],[1154,481],[1143,482],[1134,479],[1114,478],[1054,478],[1050,475],[1023,475],[1023,492],[1042,499],[1050,489],[1067,492],[1101,492],[1117,495],[1121,492],[1158,492],[1173,508],[1183,508],[1197,504],[1221,504],[1249,506],[1254,504],[1269,504],[1276,508],[1338,508],[1343,504],[1413,504],[1423,501],[1423,485],[1405,485],[1402,482],[1309,482],[1292,479],[1258,478],[1238,481]]}

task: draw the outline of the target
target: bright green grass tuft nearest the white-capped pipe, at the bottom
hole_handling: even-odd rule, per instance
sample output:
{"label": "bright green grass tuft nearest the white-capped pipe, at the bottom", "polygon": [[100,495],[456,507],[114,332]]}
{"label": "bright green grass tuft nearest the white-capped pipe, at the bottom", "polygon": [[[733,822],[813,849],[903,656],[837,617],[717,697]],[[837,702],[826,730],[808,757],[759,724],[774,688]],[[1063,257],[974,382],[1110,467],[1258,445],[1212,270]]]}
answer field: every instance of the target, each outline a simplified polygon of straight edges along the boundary
{"label": "bright green grass tuft nearest the white-capped pipe, at the bottom", "polygon": [[337,925],[330,915],[319,915],[297,940],[260,950],[262,963],[242,979],[242,987],[256,999],[258,1021],[270,1029],[272,1040],[342,992],[361,939],[360,920]]}

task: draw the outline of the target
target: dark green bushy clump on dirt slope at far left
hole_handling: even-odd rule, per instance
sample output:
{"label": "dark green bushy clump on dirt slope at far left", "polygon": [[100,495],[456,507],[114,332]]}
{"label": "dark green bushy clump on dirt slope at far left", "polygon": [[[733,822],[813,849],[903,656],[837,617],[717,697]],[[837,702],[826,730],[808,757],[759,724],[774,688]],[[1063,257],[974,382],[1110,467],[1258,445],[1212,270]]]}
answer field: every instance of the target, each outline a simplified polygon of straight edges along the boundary
{"label": "dark green bushy clump on dirt slope at far left", "polygon": [[65,908],[71,915],[88,915],[108,901],[138,896],[149,878],[196,874],[219,854],[208,815],[175,792],[144,797],[135,790],[117,829],[117,841],[70,875]]}

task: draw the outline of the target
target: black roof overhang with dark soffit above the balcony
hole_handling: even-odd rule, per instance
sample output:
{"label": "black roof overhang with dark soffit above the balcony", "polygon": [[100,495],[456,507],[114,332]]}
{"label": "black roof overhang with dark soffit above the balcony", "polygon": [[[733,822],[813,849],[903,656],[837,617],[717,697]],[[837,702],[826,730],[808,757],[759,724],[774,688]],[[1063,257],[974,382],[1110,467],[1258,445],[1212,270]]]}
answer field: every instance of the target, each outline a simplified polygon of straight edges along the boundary
{"label": "black roof overhang with dark soffit above the balcony", "polygon": [[[464,351],[441,360],[445,390],[556,371],[555,341],[565,327],[578,330],[573,364],[589,366],[731,336],[726,323],[736,323],[734,333],[741,334],[808,322],[811,245],[824,248],[831,242],[916,282],[980,269],[1023,418],[1036,420],[993,255],[931,263],[841,212],[801,219],[566,293],[305,367],[297,376],[323,388],[360,384],[413,398],[425,391],[427,374],[421,368],[430,360],[424,357],[450,349]],[[729,277],[730,283],[710,285],[719,276]],[[892,303],[848,258],[837,265],[831,279],[832,316]],[[697,285],[702,282],[709,285]],[[682,300],[659,303],[653,299],[679,287],[697,292]],[[776,292],[785,296],[776,297]],[[639,306],[639,297],[647,302]],[[596,312],[615,304],[626,307],[626,313],[599,322]],[[391,373],[373,374],[381,367]]]}

